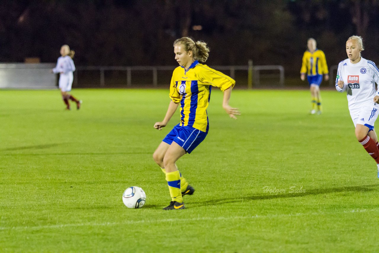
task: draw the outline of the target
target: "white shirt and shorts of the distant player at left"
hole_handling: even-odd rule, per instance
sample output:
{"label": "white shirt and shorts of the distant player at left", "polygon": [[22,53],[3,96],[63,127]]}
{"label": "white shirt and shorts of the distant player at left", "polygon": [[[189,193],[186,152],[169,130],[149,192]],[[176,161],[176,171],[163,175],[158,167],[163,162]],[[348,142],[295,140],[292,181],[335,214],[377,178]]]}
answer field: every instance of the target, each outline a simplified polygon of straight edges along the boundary
{"label": "white shirt and shorts of the distant player at left", "polygon": [[59,88],[62,91],[70,91],[72,86],[72,81],[74,80],[75,64],[74,61],[69,57],[61,56],[56,62],[56,67],[53,68],[55,74],[60,73],[59,77]]}

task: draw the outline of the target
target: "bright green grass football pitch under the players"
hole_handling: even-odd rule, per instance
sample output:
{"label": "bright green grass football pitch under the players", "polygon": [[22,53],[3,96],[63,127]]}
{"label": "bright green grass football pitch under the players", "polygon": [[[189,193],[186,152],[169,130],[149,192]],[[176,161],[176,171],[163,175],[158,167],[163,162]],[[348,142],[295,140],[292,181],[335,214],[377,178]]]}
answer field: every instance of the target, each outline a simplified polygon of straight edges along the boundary
{"label": "bright green grass football pitch under the players", "polygon": [[[178,123],[153,129],[167,90],[0,91],[1,252],[377,251],[379,179],[356,140],[346,95],[213,89],[210,131],[177,163],[196,192],[163,211],[167,183],[152,153]],[[132,185],[147,195],[128,209]]]}

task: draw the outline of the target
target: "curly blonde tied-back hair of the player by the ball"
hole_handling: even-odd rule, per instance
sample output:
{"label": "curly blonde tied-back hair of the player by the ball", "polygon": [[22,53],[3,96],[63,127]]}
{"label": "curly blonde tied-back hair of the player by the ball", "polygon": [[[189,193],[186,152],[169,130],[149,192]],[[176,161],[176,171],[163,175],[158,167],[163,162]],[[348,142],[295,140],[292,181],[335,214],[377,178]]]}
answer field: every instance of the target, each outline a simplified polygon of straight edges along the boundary
{"label": "curly blonde tied-back hair of the player by the ball", "polygon": [[174,41],[174,46],[183,45],[186,52],[192,51],[193,59],[205,62],[209,56],[209,47],[204,41],[194,41],[191,38],[183,37]]}

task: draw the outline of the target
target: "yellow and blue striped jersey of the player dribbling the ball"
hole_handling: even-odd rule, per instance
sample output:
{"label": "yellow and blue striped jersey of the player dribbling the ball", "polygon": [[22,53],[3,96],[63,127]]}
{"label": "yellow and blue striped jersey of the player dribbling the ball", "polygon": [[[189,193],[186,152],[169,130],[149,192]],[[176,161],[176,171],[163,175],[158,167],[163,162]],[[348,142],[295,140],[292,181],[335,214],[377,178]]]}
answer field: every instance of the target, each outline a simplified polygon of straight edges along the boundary
{"label": "yellow and blue striped jersey of the player dribbling the ball", "polygon": [[235,80],[198,61],[185,69],[174,69],[170,85],[170,98],[180,103],[180,126],[191,126],[208,132],[207,107],[210,101],[211,86],[222,91],[235,85]]}

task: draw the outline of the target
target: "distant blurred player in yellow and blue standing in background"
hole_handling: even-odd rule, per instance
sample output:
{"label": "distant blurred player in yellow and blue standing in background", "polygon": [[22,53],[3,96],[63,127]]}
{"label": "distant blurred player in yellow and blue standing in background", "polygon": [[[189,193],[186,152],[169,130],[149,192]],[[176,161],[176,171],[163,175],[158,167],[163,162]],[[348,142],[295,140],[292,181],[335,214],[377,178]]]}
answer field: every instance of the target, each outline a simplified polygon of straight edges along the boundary
{"label": "distant blurred player in yellow and blue standing in background", "polygon": [[300,78],[305,80],[305,73],[307,73],[308,82],[310,86],[310,93],[312,95],[312,110],[311,114],[321,114],[321,96],[320,96],[320,84],[323,81],[323,75],[325,81],[329,80],[329,71],[326,64],[325,54],[323,51],[317,49],[316,40],[309,38],[307,42],[308,50],[304,52]]}

